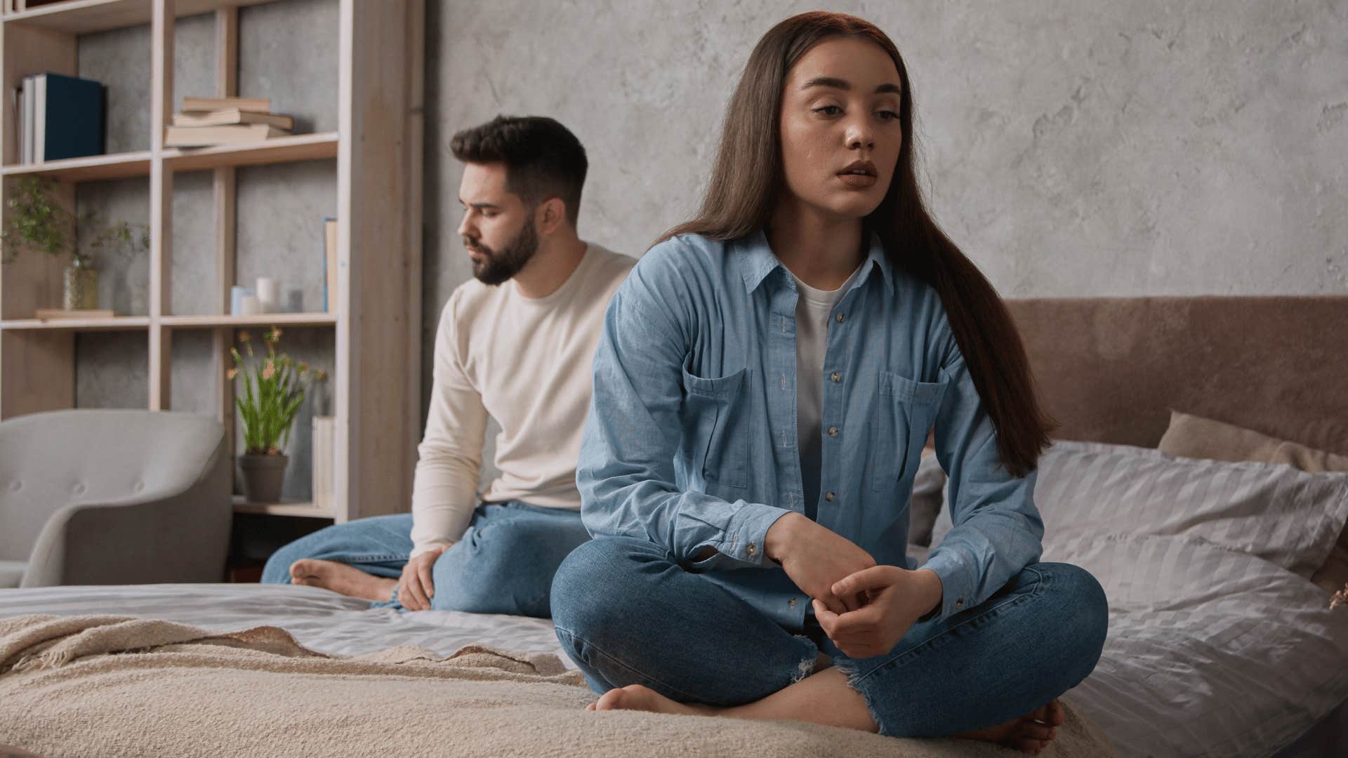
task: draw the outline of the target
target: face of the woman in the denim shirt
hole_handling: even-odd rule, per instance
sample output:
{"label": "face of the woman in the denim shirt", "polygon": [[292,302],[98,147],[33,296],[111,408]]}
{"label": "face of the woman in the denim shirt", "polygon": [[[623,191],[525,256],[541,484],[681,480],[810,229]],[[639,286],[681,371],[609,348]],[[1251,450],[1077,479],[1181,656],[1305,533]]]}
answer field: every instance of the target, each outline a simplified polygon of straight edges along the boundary
{"label": "face of the woman in the denim shirt", "polygon": [[787,71],[782,167],[799,202],[860,218],[890,189],[903,144],[899,71],[879,45],[824,40]]}

